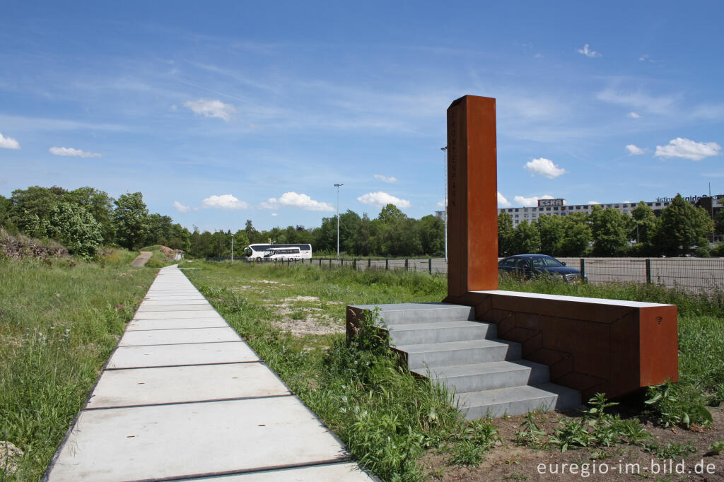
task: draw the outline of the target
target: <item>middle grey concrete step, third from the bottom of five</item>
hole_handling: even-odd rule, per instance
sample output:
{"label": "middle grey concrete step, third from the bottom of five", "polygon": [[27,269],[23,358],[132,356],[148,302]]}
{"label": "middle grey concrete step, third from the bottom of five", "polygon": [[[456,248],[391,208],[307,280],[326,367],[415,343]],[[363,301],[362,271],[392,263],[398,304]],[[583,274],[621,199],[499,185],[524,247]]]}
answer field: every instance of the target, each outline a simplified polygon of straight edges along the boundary
{"label": "middle grey concrete step, third from the bottom of five", "polygon": [[408,344],[395,347],[407,353],[408,367],[463,365],[521,358],[521,344],[501,339],[473,339],[460,342]]}

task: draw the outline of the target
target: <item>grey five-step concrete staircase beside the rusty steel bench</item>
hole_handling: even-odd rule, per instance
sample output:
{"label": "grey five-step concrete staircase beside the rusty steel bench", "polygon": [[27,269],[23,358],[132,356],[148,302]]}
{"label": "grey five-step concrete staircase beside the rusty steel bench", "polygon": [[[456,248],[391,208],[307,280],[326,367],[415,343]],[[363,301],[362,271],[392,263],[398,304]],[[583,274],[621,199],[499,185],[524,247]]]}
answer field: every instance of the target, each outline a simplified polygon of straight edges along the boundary
{"label": "grey five-step concrete staircase beside the rusty steel bench", "polygon": [[356,305],[374,310],[408,367],[455,392],[468,420],[570,410],[576,390],[550,383],[548,366],[521,359],[521,344],[496,339],[495,324],[474,320],[474,308],[450,303]]}

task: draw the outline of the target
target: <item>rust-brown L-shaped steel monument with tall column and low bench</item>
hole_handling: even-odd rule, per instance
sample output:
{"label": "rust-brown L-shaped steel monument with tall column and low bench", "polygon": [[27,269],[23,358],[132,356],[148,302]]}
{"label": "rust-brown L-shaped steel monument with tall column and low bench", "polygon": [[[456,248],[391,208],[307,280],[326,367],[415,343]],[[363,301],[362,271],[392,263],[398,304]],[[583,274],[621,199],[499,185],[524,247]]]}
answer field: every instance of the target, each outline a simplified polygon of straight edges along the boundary
{"label": "rust-brown L-shaped steel monument with tall column and low bench", "polygon": [[675,305],[497,289],[495,99],[464,96],[447,109],[447,303],[475,307],[551,381],[608,397],[678,379]]}

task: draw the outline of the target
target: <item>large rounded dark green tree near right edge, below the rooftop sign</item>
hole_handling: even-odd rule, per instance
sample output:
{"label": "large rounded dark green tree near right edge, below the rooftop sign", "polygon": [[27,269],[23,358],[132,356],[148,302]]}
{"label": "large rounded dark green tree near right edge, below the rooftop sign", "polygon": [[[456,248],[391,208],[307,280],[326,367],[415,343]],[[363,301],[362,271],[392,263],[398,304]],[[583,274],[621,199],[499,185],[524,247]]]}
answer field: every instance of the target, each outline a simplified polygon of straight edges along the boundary
{"label": "large rounded dark green tree near right edge, below the rooftop sign", "polygon": [[707,235],[714,222],[704,208],[696,208],[677,194],[661,211],[661,224],[654,244],[662,253],[672,255],[691,246],[707,246]]}

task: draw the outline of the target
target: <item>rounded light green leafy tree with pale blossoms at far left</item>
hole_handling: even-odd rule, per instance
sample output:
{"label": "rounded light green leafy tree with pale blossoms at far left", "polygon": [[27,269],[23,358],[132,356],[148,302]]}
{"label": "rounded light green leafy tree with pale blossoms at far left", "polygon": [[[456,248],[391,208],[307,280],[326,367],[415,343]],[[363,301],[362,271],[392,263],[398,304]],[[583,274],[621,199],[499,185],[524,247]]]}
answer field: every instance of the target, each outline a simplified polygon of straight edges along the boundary
{"label": "rounded light green leafy tree with pale blossoms at far left", "polygon": [[71,203],[59,203],[53,208],[46,232],[71,254],[83,258],[92,258],[103,241],[98,221],[85,208]]}

